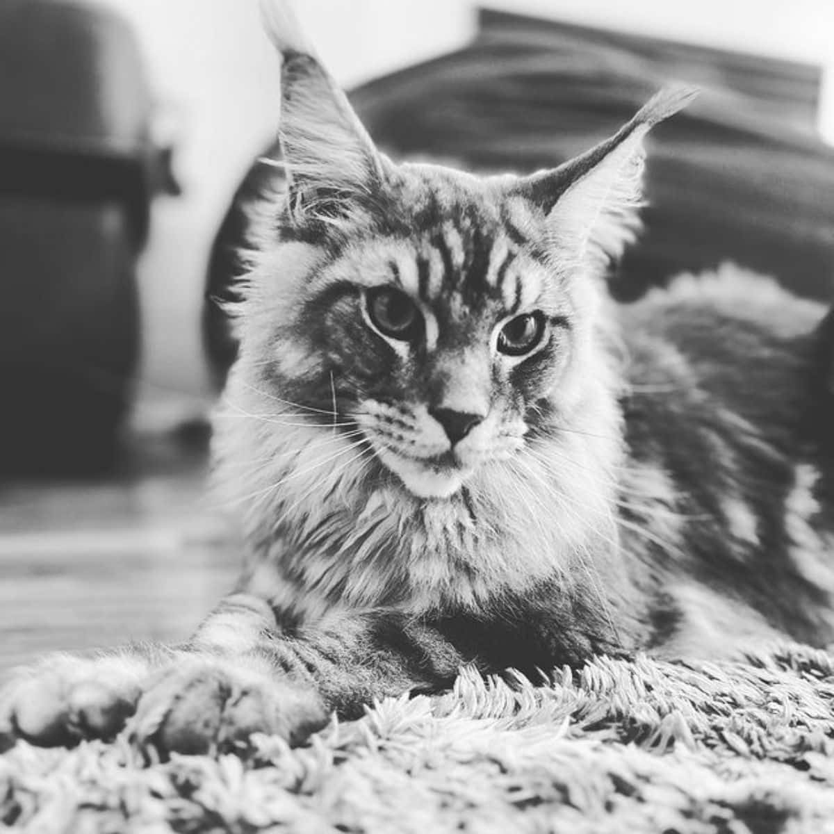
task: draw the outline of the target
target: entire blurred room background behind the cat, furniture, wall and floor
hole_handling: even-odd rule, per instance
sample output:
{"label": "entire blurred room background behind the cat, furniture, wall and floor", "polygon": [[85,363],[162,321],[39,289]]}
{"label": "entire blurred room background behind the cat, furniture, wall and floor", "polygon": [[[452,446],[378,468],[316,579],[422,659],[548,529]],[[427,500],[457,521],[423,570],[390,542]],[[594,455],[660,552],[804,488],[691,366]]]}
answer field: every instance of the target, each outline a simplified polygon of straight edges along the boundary
{"label": "entire blurred room background behind the cat, furniture, wall and floor", "polygon": [[[831,299],[831,0],[298,0],[394,155],[555,165],[662,83],[624,300],[733,259]],[[279,177],[255,0],[0,0],[0,668],[182,639],[234,576],[206,416],[246,200]]]}

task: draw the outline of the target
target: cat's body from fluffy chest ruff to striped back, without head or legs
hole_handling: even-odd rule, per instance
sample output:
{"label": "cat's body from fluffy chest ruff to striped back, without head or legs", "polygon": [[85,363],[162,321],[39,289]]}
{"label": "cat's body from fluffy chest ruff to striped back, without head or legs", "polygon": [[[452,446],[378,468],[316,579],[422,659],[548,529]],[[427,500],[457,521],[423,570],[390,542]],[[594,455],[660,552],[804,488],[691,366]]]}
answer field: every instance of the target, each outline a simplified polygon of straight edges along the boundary
{"label": "cat's body from fluffy chest ruff to striped back, without head or legs", "polygon": [[[241,475],[245,465],[226,472],[231,495],[263,500],[302,470],[315,488],[251,513],[249,540],[263,544],[240,589],[270,599],[290,626],[342,607],[430,624],[461,660],[493,670],[596,651],[727,656],[780,634],[826,643],[834,515],[816,374],[824,314],[731,265],[611,304],[598,342],[616,407],[590,413],[578,402],[580,414],[529,441],[525,478],[496,465],[473,487],[480,494],[458,501],[398,489],[335,432],[324,445],[320,429],[302,425],[272,435],[278,460],[317,445],[302,465],[263,474],[260,488]],[[245,361],[219,446],[263,469],[263,440],[241,410],[269,420],[282,409],[267,379],[239,379]],[[332,468],[319,465],[330,459]],[[282,524],[286,535],[275,535]]]}

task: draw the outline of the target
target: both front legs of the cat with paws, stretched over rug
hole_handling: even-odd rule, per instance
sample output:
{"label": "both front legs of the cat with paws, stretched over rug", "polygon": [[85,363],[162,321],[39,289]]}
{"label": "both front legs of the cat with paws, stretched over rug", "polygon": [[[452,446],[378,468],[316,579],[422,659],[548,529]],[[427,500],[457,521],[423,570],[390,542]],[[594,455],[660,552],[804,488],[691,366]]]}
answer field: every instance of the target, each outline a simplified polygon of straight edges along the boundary
{"label": "both front legs of the cat with paws, stretched over rug", "polygon": [[52,656],[18,673],[0,692],[0,739],[68,746],[127,722],[163,754],[234,749],[254,732],[295,743],[333,711],[445,686],[461,662],[430,629],[379,615],[328,615],[288,634],[264,600],[236,594],[186,646]]}

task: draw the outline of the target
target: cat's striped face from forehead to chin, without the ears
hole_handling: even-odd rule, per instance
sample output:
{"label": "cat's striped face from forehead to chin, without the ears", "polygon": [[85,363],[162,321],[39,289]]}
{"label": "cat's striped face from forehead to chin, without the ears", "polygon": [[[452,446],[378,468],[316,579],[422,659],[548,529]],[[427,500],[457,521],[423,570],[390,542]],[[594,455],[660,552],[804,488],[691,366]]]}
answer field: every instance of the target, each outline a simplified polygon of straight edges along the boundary
{"label": "cat's striped face from forehead to chin, without the ears", "polygon": [[274,333],[293,357],[275,367],[287,399],[335,398],[420,497],[520,449],[590,316],[527,237],[535,214],[510,182],[392,166],[383,216],[356,207],[349,244],[316,247]]}

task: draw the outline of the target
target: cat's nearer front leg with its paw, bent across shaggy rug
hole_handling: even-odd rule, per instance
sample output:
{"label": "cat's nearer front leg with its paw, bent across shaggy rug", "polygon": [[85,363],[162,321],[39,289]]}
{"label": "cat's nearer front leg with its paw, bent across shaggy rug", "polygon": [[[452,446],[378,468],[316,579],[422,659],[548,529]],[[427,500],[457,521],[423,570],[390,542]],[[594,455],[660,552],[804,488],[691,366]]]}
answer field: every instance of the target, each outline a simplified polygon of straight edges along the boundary
{"label": "cat's nearer front leg with its paw, bent across shaggy rug", "polygon": [[233,749],[254,732],[297,743],[333,712],[355,717],[376,697],[446,686],[461,663],[425,626],[345,611],[286,631],[247,594],[224,600],[191,646],[143,692],[134,741],[185,753]]}

